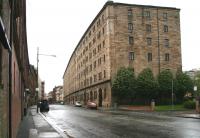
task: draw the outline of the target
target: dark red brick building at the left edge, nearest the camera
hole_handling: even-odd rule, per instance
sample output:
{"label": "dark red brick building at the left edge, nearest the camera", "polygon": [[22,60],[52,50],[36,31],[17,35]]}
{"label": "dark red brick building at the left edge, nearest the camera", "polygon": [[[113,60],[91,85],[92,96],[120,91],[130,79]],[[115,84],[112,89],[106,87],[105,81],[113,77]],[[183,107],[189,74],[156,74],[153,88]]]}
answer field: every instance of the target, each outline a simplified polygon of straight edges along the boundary
{"label": "dark red brick building at the left edge, nearest the camera", "polygon": [[0,137],[15,138],[29,89],[26,0],[0,2]]}

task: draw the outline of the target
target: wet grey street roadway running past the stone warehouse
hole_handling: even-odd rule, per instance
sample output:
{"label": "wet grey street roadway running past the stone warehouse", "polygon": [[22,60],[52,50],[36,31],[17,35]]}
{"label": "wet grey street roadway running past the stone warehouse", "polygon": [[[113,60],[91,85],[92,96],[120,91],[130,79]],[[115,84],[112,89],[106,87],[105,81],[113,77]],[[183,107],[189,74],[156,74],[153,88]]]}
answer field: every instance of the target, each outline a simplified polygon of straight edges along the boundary
{"label": "wet grey street roadway running past the stone warehouse", "polygon": [[69,105],[50,105],[50,111],[43,114],[52,125],[73,138],[200,137],[200,120],[192,118]]}

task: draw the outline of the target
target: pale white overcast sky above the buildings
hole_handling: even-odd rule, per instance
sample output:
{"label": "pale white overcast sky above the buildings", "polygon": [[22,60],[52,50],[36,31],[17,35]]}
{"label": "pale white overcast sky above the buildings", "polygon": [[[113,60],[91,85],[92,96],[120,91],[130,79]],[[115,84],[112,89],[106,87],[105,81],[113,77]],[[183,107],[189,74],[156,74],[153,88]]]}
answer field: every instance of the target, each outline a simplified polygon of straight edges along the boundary
{"label": "pale white overcast sky above the buildings", "polygon": [[[30,63],[45,81],[45,92],[63,84],[69,58],[83,33],[107,0],[27,0],[27,37]],[[168,6],[181,9],[183,70],[200,68],[198,0],[115,0],[114,2]]]}

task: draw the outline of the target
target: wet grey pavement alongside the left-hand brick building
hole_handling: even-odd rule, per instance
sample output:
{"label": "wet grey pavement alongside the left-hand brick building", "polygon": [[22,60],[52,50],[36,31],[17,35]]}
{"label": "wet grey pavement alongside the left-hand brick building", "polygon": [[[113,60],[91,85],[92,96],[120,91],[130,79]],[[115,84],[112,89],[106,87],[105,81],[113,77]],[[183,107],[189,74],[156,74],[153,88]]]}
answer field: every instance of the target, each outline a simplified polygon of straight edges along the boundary
{"label": "wet grey pavement alongside the left-hand brick building", "polygon": [[68,138],[55,126],[50,124],[44,115],[36,112],[36,106],[28,109],[22,120],[17,138]]}

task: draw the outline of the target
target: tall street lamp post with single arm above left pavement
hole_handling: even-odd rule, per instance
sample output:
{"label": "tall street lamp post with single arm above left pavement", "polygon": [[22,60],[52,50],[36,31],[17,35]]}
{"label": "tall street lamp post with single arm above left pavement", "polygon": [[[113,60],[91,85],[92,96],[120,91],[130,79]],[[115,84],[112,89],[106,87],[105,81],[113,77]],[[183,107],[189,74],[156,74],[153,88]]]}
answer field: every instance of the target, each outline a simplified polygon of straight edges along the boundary
{"label": "tall street lamp post with single arm above left pavement", "polygon": [[56,55],[48,55],[48,54],[40,54],[39,53],[39,47],[37,47],[37,88],[36,88],[36,102],[37,102],[37,113],[38,113],[38,93],[39,93],[39,55],[42,56],[51,56],[51,57],[56,57]]}

